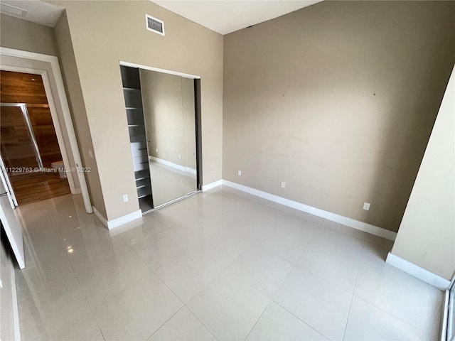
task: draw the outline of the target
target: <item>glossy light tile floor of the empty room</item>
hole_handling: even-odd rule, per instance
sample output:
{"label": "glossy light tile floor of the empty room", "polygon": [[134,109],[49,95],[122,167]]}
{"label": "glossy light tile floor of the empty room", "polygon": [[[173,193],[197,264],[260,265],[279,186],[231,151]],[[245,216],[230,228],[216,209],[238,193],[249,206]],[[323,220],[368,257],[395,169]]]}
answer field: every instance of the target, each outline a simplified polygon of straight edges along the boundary
{"label": "glossy light tile floor of the empty room", "polygon": [[218,188],[108,231],[79,195],[19,209],[23,340],[437,340],[442,292],[392,243]]}

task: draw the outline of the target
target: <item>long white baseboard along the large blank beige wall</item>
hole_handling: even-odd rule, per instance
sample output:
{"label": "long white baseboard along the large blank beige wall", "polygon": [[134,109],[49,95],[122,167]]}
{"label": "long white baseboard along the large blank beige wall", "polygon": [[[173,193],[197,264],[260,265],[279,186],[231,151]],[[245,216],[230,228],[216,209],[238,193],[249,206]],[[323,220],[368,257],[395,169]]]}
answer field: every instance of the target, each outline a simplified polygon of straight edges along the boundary
{"label": "long white baseboard along the large blank beige wall", "polygon": [[278,195],[262,192],[262,190],[256,190],[255,188],[250,188],[245,185],[240,185],[238,183],[232,183],[231,181],[228,180],[222,180],[222,183],[223,185],[235,188],[236,190],[241,190],[242,192],[256,195],[257,197],[262,197],[264,199],[277,202],[278,204],[294,208],[295,210],[306,212],[311,215],[316,215],[317,217],[321,217],[326,220],[331,220],[332,222],[338,222],[339,224],[343,224],[348,227],[353,227],[354,229],[359,229],[360,231],[368,232],[378,237],[382,237],[389,240],[395,240],[395,238],[397,237],[397,232],[392,232],[389,231],[388,229],[382,229],[382,227],[367,224],[366,222],[360,222],[352,218],[343,217],[343,215],[337,215],[336,213],[324,211],[316,207],[302,204],[301,202],[296,202],[294,200],[289,200],[284,197],[279,197]]}

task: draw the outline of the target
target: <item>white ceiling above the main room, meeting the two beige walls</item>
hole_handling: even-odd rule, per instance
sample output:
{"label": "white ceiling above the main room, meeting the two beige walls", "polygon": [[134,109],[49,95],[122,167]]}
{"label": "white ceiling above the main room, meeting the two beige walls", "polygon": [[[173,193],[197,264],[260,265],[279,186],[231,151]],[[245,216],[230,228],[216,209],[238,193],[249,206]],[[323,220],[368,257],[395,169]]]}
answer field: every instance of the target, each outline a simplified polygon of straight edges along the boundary
{"label": "white ceiling above the main room, meeting the two beige walls", "polygon": [[151,1],[212,31],[228,34],[303,9],[322,0]]}

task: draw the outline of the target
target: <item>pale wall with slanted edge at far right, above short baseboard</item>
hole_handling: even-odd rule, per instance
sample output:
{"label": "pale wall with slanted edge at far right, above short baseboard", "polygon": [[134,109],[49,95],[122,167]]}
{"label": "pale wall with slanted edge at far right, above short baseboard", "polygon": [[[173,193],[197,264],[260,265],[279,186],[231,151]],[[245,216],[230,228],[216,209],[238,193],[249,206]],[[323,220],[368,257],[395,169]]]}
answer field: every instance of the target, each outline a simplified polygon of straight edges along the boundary
{"label": "pale wall with slanted edge at far right, above short baseboard", "polygon": [[447,280],[455,273],[455,72],[447,86],[392,254]]}

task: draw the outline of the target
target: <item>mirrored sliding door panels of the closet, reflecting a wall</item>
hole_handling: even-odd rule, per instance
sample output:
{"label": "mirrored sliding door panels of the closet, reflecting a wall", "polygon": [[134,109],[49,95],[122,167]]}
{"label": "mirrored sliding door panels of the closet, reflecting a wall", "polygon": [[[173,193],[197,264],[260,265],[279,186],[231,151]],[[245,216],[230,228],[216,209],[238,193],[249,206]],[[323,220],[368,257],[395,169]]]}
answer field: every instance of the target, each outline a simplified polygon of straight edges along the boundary
{"label": "mirrored sliding door panels of the closet, reflecting a wall", "polygon": [[154,207],[197,190],[194,80],[139,70]]}

